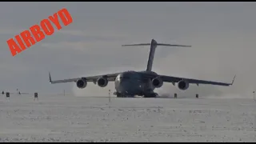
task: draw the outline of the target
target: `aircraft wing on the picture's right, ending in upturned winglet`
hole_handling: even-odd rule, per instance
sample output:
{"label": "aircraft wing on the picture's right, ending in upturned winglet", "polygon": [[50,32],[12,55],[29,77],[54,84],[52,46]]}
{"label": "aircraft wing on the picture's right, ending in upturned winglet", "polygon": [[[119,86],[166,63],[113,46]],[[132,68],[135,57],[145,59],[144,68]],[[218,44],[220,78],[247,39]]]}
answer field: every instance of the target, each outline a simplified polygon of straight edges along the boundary
{"label": "aircraft wing on the picture's right, ending in upturned winglet", "polygon": [[[206,80],[199,80],[199,79],[191,79],[191,78],[178,78],[178,77],[172,77],[172,76],[166,76],[166,75],[159,75],[160,78],[162,78],[163,82],[172,82],[176,83],[181,80],[186,80],[189,83],[194,83],[194,84],[208,84],[208,85],[217,85],[217,86],[230,86],[233,85],[234,79],[231,83],[224,83],[224,82],[213,82],[213,81],[206,81]],[[235,78],[235,75],[234,75]]]}

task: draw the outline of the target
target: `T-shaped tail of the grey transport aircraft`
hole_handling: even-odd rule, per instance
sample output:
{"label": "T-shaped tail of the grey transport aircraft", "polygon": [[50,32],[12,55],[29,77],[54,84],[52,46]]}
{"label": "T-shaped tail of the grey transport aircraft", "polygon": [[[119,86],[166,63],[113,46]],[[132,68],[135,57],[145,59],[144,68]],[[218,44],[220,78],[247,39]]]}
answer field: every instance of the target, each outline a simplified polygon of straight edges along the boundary
{"label": "T-shaped tail of the grey transport aircraft", "polygon": [[170,45],[164,43],[158,43],[154,39],[151,40],[151,43],[140,43],[140,44],[131,44],[131,45],[122,45],[122,46],[150,46],[150,54],[147,61],[146,71],[151,71],[154,61],[154,52],[157,46],[180,46],[180,47],[191,47],[184,45]]}

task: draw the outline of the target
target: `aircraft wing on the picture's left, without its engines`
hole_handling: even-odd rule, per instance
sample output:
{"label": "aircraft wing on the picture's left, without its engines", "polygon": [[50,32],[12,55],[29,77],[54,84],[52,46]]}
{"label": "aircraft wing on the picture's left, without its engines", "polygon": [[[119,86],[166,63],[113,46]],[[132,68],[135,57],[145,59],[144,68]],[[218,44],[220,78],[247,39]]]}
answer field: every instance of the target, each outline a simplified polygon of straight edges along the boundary
{"label": "aircraft wing on the picture's left, without its engines", "polygon": [[62,80],[54,80],[52,81],[51,80],[51,77],[50,77],[50,73],[49,73],[49,81],[51,84],[54,84],[54,83],[62,83],[62,82],[77,82],[79,79],[85,79],[86,82],[97,82],[97,79],[98,78],[107,78],[108,81],[114,81],[115,78],[118,76],[118,74],[120,73],[114,73],[114,74],[102,74],[102,75],[94,75],[94,76],[88,76],[88,77],[80,77],[80,78],[69,78],[69,79],[62,79]]}

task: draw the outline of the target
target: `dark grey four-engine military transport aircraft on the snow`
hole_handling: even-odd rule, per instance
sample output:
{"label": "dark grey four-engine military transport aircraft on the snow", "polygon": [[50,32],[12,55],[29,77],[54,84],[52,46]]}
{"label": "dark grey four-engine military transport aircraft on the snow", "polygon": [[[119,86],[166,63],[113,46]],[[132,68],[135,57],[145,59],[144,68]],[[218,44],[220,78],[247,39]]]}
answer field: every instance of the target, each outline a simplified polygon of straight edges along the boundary
{"label": "dark grey four-engine military transport aircraft on the snow", "polygon": [[[143,71],[124,71],[115,74],[102,74],[94,75],[90,77],[81,77],[81,78],[70,78],[63,80],[52,81],[49,72],[50,83],[61,83],[61,82],[76,82],[78,88],[83,89],[87,86],[87,82],[94,82],[94,84],[105,87],[108,82],[114,82],[115,92],[114,94],[117,97],[134,97],[135,95],[143,96],[144,98],[154,98],[158,96],[157,93],[154,93],[155,88],[160,88],[163,85],[163,82],[172,82],[175,86],[175,83],[178,84],[180,90],[186,90],[189,88],[190,84],[210,84],[217,86],[230,86],[233,85],[234,79],[231,83],[223,82],[211,82],[205,80],[191,79],[191,78],[178,78],[173,76],[160,75],[152,71],[152,64],[154,61],[154,51],[157,46],[182,46],[182,45],[170,45],[162,44],[156,42],[154,39],[151,40],[151,43],[142,43],[142,44],[132,44],[132,45],[122,45],[122,46],[150,46],[150,54],[146,66],[146,70]],[[190,46],[183,46],[190,47]],[[235,78],[235,75],[234,75]]]}

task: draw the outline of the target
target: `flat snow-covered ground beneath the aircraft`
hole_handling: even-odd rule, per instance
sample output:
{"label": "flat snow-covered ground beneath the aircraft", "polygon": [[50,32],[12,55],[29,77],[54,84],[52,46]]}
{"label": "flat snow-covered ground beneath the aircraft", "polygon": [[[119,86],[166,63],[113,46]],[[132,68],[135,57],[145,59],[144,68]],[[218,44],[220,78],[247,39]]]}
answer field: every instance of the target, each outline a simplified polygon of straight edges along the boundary
{"label": "flat snow-covered ground beneath the aircraft", "polygon": [[0,142],[256,142],[253,98],[38,98],[1,95]]}

